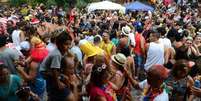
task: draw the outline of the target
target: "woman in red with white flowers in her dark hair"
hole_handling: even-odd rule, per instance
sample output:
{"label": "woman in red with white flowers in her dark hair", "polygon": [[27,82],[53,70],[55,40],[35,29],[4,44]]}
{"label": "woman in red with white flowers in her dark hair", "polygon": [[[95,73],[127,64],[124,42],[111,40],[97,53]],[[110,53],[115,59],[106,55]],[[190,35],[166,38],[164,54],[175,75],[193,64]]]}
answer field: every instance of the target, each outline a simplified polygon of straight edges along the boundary
{"label": "woman in red with white flowers in her dark hair", "polygon": [[112,97],[109,81],[109,66],[105,63],[95,64],[91,73],[90,83],[88,85],[88,94],[90,101],[115,101]]}

